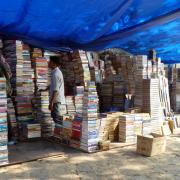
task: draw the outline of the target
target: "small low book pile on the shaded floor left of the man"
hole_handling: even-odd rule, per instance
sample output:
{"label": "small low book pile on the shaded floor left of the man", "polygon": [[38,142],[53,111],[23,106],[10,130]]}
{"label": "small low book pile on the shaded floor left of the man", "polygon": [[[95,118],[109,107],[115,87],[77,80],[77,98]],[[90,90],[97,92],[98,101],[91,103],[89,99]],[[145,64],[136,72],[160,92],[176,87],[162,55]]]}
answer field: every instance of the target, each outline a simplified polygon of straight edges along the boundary
{"label": "small low book pile on the shaded floor left of the man", "polygon": [[41,125],[38,123],[23,124],[23,136],[25,139],[41,137]]}

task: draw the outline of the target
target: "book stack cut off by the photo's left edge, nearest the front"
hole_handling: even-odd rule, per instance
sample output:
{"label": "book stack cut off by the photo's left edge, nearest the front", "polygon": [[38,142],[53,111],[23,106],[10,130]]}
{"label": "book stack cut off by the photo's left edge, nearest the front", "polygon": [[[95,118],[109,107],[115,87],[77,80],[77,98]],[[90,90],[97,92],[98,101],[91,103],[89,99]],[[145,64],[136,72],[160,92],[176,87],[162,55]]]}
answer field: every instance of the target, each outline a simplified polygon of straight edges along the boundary
{"label": "book stack cut off by the photo's left edge, nearest the front", "polygon": [[6,79],[0,78],[0,165],[8,164]]}

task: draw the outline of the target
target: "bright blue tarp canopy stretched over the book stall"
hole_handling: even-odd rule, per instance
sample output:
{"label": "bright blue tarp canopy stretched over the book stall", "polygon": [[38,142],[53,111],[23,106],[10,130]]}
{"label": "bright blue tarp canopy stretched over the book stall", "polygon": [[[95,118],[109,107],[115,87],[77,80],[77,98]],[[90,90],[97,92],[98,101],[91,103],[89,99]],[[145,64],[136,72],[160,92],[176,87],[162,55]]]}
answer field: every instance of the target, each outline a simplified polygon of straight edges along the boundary
{"label": "bright blue tarp canopy stretched over the book stall", "polygon": [[0,0],[0,37],[53,51],[154,48],[180,62],[180,0]]}

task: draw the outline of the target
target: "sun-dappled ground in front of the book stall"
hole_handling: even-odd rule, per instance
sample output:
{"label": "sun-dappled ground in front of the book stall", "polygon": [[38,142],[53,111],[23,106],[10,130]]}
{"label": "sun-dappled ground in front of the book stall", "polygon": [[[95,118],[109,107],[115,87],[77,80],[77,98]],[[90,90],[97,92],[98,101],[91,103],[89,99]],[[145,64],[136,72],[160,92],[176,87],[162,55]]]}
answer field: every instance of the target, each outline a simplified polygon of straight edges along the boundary
{"label": "sun-dappled ground in front of the book stall", "polygon": [[180,135],[168,137],[166,153],[144,157],[135,146],[86,154],[64,148],[62,157],[0,168],[0,179],[180,180]]}

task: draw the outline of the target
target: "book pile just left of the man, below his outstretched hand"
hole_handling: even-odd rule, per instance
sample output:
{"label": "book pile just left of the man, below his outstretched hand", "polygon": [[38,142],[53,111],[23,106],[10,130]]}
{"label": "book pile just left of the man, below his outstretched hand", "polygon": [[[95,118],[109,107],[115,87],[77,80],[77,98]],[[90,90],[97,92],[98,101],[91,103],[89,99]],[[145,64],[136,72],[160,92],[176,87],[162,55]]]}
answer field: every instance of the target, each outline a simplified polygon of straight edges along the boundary
{"label": "book pile just left of the man, below his outstretched hand", "polygon": [[37,120],[41,124],[41,136],[50,137],[53,132],[54,122],[49,111],[49,92],[37,93]]}

